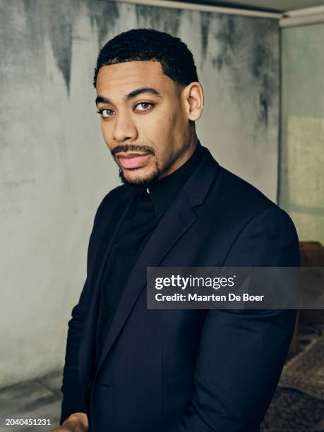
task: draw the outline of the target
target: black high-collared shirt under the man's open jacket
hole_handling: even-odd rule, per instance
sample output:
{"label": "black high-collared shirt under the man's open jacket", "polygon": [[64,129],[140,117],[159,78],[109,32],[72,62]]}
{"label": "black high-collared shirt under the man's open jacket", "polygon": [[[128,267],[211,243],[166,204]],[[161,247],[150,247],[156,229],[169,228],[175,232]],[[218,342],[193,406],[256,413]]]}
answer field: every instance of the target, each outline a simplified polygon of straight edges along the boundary
{"label": "black high-collared shirt under the man's open jacket", "polygon": [[102,277],[97,320],[97,361],[133,266],[160,217],[168,210],[203,154],[204,148],[198,140],[193,154],[179,169],[158,180],[150,188],[136,186],[136,198],[116,234]]}

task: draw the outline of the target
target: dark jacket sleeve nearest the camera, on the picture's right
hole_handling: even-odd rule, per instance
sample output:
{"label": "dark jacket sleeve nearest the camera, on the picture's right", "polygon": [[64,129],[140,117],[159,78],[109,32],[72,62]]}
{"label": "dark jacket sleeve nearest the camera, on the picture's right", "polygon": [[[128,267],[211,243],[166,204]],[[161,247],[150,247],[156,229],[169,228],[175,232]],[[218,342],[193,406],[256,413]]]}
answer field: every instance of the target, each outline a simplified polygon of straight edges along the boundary
{"label": "dark jacket sleeve nearest the camera, on the picture's right", "polygon": [[[224,266],[299,267],[299,241],[273,206],[246,224]],[[203,325],[191,402],[162,432],[256,432],[275,392],[294,332],[295,310],[210,310]]]}

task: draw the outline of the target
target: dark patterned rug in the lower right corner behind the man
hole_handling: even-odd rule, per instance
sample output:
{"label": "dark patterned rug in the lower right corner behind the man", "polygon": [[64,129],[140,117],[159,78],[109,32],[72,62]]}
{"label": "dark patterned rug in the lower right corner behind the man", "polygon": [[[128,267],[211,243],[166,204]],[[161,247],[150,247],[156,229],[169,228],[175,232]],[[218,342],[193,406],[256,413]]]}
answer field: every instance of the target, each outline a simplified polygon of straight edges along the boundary
{"label": "dark patterned rug in the lower right corner behind the man", "polygon": [[323,326],[299,331],[299,354],[284,366],[260,431],[324,432]]}

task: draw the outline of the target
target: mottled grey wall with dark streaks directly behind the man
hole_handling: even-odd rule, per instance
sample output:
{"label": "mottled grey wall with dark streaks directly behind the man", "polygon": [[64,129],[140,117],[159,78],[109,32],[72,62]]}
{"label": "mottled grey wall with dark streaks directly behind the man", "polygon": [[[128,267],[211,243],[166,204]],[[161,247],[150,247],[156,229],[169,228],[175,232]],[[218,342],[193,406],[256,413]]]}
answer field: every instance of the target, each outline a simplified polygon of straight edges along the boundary
{"label": "mottled grey wall with dark streaks directly behind the man", "polygon": [[98,203],[119,182],[95,114],[98,49],[130,28],[181,37],[205,90],[202,143],[275,199],[272,20],[95,0],[0,0],[0,385],[61,366]]}

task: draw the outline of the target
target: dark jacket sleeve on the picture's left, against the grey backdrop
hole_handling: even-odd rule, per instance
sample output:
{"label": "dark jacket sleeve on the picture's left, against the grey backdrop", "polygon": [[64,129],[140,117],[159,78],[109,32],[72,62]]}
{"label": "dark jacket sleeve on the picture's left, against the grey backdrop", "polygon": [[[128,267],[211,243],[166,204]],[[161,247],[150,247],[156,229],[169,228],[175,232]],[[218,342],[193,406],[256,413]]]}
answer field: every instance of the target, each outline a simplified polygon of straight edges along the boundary
{"label": "dark jacket sleeve on the picture's left, against the grey backdrop", "polygon": [[[88,246],[88,260],[91,251],[91,244],[95,243],[94,238],[100,235],[100,228],[98,228],[98,225],[100,225],[100,215],[102,214],[102,208],[107,203],[108,196],[109,193],[102,200],[102,203],[97,209],[95,215],[95,220]],[[63,380],[61,385],[63,400],[61,404],[60,425],[64,422],[65,419],[68,418],[68,416],[73,413],[87,412],[85,402],[83,401],[83,392],[80,387],[78,354],[80,337],[83,331],[85,316],[88,310],[89,296],[90,292],[88,280],[85,280],[85,284],[83,285],[78,304],[73,307],[71,319],[68,321],[68,336],[66,341],[66,354],[63,370]]]}

